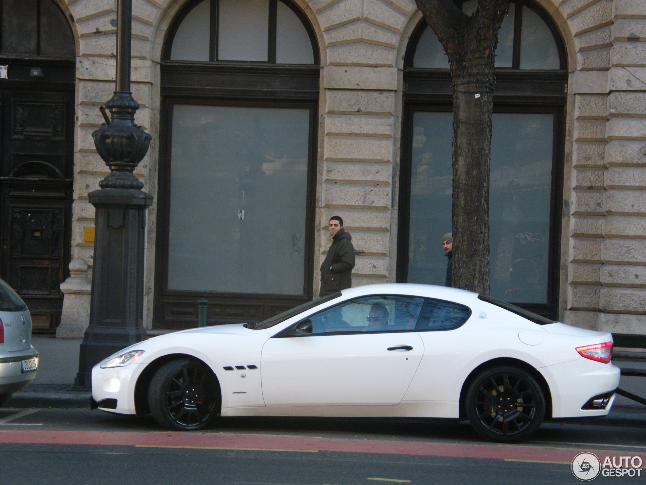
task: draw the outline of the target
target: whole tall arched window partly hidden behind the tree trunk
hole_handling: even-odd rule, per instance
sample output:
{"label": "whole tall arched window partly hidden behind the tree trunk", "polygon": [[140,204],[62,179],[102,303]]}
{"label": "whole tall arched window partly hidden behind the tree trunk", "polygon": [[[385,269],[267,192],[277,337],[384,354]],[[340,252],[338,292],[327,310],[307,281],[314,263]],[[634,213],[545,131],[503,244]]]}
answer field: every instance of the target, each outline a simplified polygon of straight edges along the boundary
{"label": "whole tall arched window partly hidden behind the tree trunk", "polygon": [[[474,11],[475,0],[463,11]],[[496,50],[490,169],[491,295],[556,317],[559,278],[563,43],[545,12],[511,1]],[[451,232],[452,87],[446,54],[421,22],[404,65],[398,281],[443,285]]]}

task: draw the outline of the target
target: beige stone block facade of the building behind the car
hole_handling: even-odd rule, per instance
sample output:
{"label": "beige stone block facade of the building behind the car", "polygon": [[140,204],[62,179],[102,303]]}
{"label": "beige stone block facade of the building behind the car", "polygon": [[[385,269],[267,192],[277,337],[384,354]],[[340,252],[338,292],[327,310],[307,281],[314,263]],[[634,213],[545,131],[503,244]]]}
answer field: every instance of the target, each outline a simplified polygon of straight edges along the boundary
{"label": "beige stone block facade of the building behind the car", "polygon": [[[99,106],[114,91],[116,1],[49,1],[70,19],[76,43],[70,257],[85,259],[91,270],[94,208],[88,193],[107,175],[92,132],[103,122]],[[151,149],[136,170],[154,196],[147,226],[145,326],[156,330],[164,327],[158,316],[166,314],[156,308],[159,285],[168,281],[160,272],[169,267],[160,255],[169,247],[167,239],[160,244],[162,232],[168,232],[160,224],[167,222],[164,191],[171,184],[160,167],[172,153],[164,99],[181,96],[181,89],[163,86],[163,76],[170,76],[163,66],[169,32],[180,35],[178,16],[186,15],[189,2],[132,3],[132,92],[141,106],[136,122],[152,135]],[[335,214],[345,219],[359,251],[354,285],[406,281],[412,270],[402,258],[410,257],[414,246],[407,219],[414,204],[407,194],[423,180],[410,168],[420,132],[410,125],[414,110],[407,111],[421,99],[412,86],[421,84],[415,84],[413,71],[407,74],[406,63],[411,43],[420,39],[421,12],[412,0],[293,0],[293,6],[314,39],[318,72],[307,195],[311,257],[304,259],[303,297],[318,294],[318,266],[329,244],[326,225]],[[646,0],[532,0],[519,1],[521,6],[539,12],[556,32],[565,67],[555,69],[564,83],[550,81],[559,85],[554,96],[563,103],[554,111],[562,119],[555,122],[555,163],[561,166],[553,173],[550,203],[550,311],[580,327],[646,334]],[[446,104],[450,92],[439,91],[437,102]],[[194,98],[205,96],[200,92]],[[429,241],[440,253],[440,241]],[[191,293],[195,300],[197,293]],[[216,305],[213,323],[247,316],[244,308],[229,310]]]}

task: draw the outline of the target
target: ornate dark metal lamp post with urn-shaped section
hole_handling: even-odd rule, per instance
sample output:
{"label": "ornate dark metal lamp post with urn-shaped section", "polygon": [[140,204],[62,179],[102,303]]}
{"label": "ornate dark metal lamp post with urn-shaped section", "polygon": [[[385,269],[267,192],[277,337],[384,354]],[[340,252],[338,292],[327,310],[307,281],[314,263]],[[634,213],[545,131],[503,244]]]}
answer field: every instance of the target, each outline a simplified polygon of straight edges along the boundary
{"label": "ornate dark metal lamp post with urn-shaped section", "polygon": [[143,329],[145,215],[152,195],[133,174],[151,143],[134,124],[139,103],[130,92],[132,0],[117,5],[116,91],[101,109],[106,123],[92,133],[110,174],[89,194],[96,208],[90,325],[79,351],[78,387],[92,385],[92,367],[146,338]]}

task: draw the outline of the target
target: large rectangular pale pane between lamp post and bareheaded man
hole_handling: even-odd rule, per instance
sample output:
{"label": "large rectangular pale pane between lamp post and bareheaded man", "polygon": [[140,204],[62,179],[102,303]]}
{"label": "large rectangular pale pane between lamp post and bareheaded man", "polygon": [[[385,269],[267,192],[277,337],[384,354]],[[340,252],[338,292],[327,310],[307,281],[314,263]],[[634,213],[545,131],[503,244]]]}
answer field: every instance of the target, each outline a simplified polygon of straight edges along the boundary
{"label": "large rectangular pale pane between lamp post and bareheaded man", "polygon": [[303,292],[309,118],[174,105],[170,290]]}

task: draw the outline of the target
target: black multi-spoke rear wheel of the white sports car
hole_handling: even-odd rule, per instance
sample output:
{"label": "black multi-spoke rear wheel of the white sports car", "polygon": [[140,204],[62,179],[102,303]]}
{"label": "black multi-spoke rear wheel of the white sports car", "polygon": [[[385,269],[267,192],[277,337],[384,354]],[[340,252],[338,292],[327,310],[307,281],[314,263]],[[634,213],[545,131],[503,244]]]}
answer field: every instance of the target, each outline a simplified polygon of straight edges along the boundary
{"label": "black multi-spoke rear wheel of the white sports car", "polygon": [[545,417],[545,396],[530,374],[501,365],[480,372],[466,393],[466,415],[481,436],[498,442],[526,440]]}

